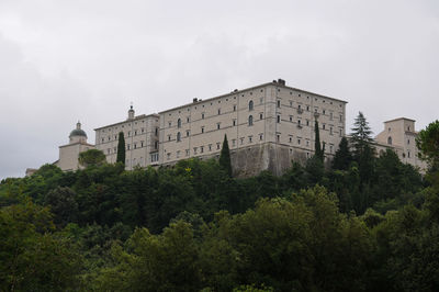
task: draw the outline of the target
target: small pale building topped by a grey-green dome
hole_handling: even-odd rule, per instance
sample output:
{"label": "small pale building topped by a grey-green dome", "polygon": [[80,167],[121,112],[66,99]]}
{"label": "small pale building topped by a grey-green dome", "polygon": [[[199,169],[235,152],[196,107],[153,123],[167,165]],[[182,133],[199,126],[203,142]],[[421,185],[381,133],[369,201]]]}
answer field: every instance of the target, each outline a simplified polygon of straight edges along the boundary
{"label": "small pale building topped by a grey-green dome", "polygon": [[77,170],[80,168],[78,162],[79,154],[93,148],[94,145],[87,143],[87,134],[81,130],[81,123],[78,122],[76,128],[70,132],[69,144],[59,146],[59,159],[54,165],[65,171]]}

